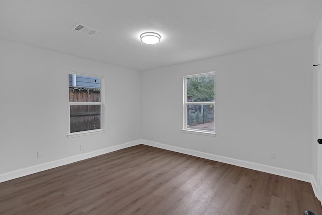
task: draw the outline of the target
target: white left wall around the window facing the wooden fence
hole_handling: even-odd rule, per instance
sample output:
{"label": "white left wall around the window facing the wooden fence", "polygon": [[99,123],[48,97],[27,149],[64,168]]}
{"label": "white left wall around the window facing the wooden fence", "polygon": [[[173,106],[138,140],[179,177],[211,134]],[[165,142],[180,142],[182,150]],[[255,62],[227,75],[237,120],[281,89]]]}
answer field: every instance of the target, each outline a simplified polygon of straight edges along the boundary
{"label": "white left wall around the window facing the wooden fence", "polygon": [[[4,40],[0,47],[0,175],[140,138],[138,71]],[[70,71],[104,76],[106,132],[67,137]]]}

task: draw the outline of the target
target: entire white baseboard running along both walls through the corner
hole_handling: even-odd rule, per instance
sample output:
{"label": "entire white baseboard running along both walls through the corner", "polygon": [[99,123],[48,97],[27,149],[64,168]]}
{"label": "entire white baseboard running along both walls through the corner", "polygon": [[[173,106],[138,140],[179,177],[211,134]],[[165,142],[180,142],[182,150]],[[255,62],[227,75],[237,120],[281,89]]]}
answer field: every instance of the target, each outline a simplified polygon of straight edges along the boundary
{"label": "entire white baseboard running along both walls through the corner", "polygon": [[187,155],[197,156],[200,158],[205,158],[205,159],[209,159],[209,160],[213,160],[213,161],[219,161],[219,162],[232,164],[232,165],[236,165],[236,166],[240,166],[240,167],[245,167],[245,168],[249,168],[249,169],[253,169],[253,170],[258,170],[258,171],[267,172],[267,173],[271,173],[271,174],[275,174],[275,175],[280,175],[280,176],[284,176],[284,177],[288,177],[288,178],[293,178],[293,179],[297,179],[297,180],[301,180],[301,181],[306,181],[306,182],[309,182],[312,184],[312,188],[314,190],[315,196],[318,196],[317,182],[316,182],[315,178],[313,177],[313,175],[310,175],[310,174],[301,173],[301,172],[297,172],[297,171],[293,171],[293,170],[282,169],[282,168],[278,168],[278,167],[272,167],[272,166],[258,164],[258,163],[253,163],[253,162],[249,162],[249,161],[238,160],[238,159],[234,159],[234,158],[228,158],[228,157],[209,154],[209,153],[205,153],[205,152],[175,147],[175,146],[171,146],[171,145],[160,144],[159,142],[153,142],[153,141],[148,141],[148,140],[144,140],[144,139],[126,142],[125,144],[120,144],[120,145],[104,148],[101,150],[96,150],[93,152],[88,152],[88,153],[84,153],[81,155],[76,155],[76,156],[72,156],[72,157],[68,157],[68,158],[64,158],[64,159],[60,159],[60,160],[56,160],[56,161],[52,161],[52,162],[48,162],[48,163],[44,163],[44,164],[40,164],[40,165],[28,167],[28,168],[16,170],[16,171],[4,173],[4,174],[0,175],[0,182],[9,181],[9,180],[12,180],[15,178],[34,174],[34,173],[41,172],[44,170],[49,170],[49,169],[52,169],[55,167],[63,166],[66,164],[77,162],[77,161],[82,161],[82,160],[85,160],[88,158],[103,155],[103,154],[113,152],[116,150],[120,150],[120,149],[124,149],[127,147],[136,146],[139,144],[144,144],[147,146],[152,146],[152,147],[166,149],[166,150],[170,150],[170,151],[174,151],[174,152],[184,153]]}

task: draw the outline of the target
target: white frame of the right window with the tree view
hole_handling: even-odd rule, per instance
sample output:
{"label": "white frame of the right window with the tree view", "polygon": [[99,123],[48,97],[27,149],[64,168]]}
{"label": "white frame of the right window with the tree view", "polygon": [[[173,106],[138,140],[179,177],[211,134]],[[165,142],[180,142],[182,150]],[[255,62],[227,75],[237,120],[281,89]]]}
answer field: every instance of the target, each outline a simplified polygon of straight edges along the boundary
{"label": "white frame of the right window with the tree view", "polygon": [[[206,76],[206,75],[214,75],[214,101],[213,102],[188,102],[187,101],[187,78],[193,78],[193,77],[199,77],[199,76]],[[199,74],[194,74],[194,75],[187,75],[187,76],[183,76],[183,129],[182,131],[185,133],[193,133],[193,134],[201,134],[201,135],[208,135],[208,136],[216,136],[216,119],[215,119],[215,110],[216,110],[216,76],[215,76],[215,72],[211,71],[209,73],[199,73]],[[192,128],[188,128],[187,124],[188,124],[188,113],[187,113],[187,109],[188,109],[188,105],[213,105],[213,126],[214,126],[214,130],[213,131],[206,131],[206,130],[198,130],[198,129],[192,129]]]}

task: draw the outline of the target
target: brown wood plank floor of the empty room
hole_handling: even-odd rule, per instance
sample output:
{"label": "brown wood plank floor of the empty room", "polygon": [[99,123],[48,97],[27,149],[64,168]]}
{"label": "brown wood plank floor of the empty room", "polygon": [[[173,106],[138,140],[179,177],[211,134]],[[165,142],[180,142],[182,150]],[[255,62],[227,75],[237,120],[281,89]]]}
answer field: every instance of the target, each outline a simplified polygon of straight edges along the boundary
{"label": "brown wood plank floor of the empty room", "polygon": [[0,183],[0,214],[322,214],[309,183],[138,145]]}

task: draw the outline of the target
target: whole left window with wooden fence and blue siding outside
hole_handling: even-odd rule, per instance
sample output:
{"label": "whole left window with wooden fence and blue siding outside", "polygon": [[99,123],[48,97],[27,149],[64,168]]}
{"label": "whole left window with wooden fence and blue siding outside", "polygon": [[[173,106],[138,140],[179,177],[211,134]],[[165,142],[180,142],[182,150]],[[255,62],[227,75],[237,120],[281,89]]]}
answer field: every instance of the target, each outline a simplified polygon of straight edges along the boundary
{"label": "whole left window with wooden fence and blue siding outside", "polygon": [[102,77],[69,74],[69,135],[102,130]]}

